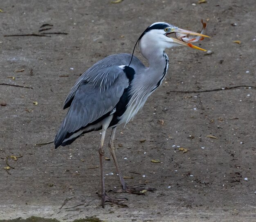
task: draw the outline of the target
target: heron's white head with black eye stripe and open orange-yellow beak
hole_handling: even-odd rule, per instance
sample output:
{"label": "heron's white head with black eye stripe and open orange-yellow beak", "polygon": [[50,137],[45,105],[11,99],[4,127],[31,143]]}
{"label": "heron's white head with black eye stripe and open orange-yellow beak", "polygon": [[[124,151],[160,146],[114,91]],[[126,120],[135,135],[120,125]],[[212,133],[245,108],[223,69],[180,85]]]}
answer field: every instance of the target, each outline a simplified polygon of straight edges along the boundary
{"label": "heron's white head with black eye stripe and open orange-yellow beak", "polygon": [[201,49],[200,47],[192,45],[191,43],[186,43],[184,41],[178,40],[177,38],[170,37],[169,35],[172,33],[209,37],[197,32],[180,29],[166,22],[155,22],[146,28],[146,30],[139,37],[139,47],[142,49],[141,51],[145,51],[143,49],[149,47],[164,50],[175,46],[189,46],[195,49],[206,51],[205,49]]}

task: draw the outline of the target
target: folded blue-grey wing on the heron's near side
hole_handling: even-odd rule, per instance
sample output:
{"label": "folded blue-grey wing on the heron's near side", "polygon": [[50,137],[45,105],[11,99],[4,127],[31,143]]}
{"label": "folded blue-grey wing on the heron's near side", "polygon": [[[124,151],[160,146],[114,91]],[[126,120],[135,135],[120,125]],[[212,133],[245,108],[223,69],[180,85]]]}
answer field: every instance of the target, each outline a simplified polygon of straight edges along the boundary
{"label": "folded blue-grey wing on the heron's near side", "polygon": [[119,102],[124,89],[129,85],[126,74],[119,66],[103,68],[98,76],[103,78],[81,79],[77,82],[79,85],[75,85],[72,93],[70,92],[70,98],[67,97],[65,105],[68,104],[70,109],[55,137],[56,148],[62,144],[68,134],[84,128],[111,112]]}

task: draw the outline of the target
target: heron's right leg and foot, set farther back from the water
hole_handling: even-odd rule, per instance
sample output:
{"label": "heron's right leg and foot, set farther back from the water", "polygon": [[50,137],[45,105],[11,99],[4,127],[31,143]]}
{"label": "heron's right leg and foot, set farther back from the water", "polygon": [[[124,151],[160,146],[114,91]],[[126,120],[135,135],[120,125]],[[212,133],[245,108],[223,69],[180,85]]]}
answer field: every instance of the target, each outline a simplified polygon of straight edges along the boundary
{"label": "heron's right leg and foot, set farther back from the water", "polygon": [[110,140],[108,143],[108,147],[109,147],[110,153],[112,155],[112,158],[115,162],[115,166],[117,168],[117,173],[119,175],[120,183],[122,186],[121,190],[115,190],[115,192],[116,193],[127,192],[127,193],[134,193],[134,194],[138,194],[138,195],[144,195],[146,193],[146,191],[155,191],[155,188],[145,188],[146,184],[141,184],[138,186],[127,186],[126,185],[126,183],[124,181],[124,177],[121,172],[121,168],[120,168],[118,160],[117,160],[116,151],[115,151],[114,139],[115,139],[116,130],[117,130],[116,127],[112,128]]}

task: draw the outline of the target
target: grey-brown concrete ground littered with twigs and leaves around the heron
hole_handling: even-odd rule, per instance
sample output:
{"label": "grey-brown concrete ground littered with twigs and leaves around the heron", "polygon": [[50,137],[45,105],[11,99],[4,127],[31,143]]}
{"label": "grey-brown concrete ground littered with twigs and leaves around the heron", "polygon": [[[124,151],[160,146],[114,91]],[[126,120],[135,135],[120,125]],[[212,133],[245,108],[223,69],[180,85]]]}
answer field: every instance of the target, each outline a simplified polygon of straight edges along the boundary
{"label": "grey-brown concrete ground littered with twigs and leaves around the heron", "polygon": [[[255,221],[255,8],[254,0],[2,1],[0,222]],[[57,150],[35,144],[53,141],[66,113],[63,101],[91,65],[132,52],[153,22],[196,31],[201,18],[212,36],[201,47],[212,54],[166,50],[162,86],[117,129],[127,183],[157,191],[110,194],[127,197],[129,207],[102,209],[100,132]],[[106,175],[106,189],[119,187],[113,160],[105,164],[106,174],[114,174]]]}

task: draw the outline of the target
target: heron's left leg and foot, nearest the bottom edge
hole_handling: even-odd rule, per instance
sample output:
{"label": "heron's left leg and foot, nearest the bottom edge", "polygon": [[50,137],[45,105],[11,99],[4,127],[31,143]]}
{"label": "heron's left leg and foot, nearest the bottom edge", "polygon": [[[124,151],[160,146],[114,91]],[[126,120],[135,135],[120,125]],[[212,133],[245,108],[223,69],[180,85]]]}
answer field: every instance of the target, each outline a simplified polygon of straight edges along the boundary
{"label": "heron's left leg and foot, nearest the bottom edge", "polygon": [[[111,121],[111,119],[110,119],[110,121]],[[109,125],[109,123],[108,123],[108,125]],[[99,148],[99,159],[100,159],[100,167],[101,167],[101,195],[99,195],[99,194],[98,195],[101,197],[101,206],[102,206],[102,208],[104,208],[105,202],[111,202],[111,203],[114,203],[114,204],[118,204],[119,206],[127,207],[126,204],[119,203],[119,201],[127,200],[126,198],[125,199],[110,198],[110,197],[108,197],[108,195],[106,194],[106,191],[105,191],[104,141],[105,141],[105,136],[106,136],[106,128],[108,128],[108,125],[107,125],[107,127],[102,128],[101,146]]]}

